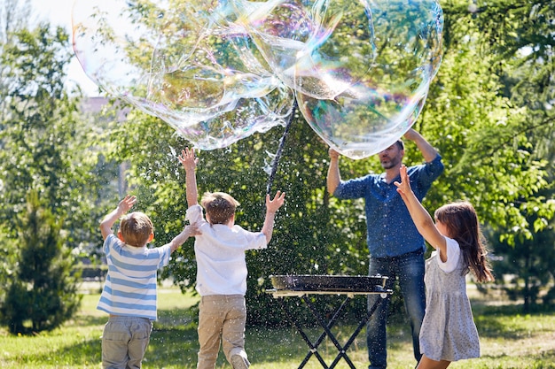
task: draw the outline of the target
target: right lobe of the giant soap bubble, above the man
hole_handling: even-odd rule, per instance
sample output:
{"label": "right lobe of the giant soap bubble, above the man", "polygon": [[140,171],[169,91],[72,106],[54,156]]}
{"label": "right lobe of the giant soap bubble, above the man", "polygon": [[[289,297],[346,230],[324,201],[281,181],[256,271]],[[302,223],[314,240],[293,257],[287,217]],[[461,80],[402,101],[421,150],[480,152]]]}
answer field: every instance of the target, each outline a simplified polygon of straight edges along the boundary
{"label": "right lobe of the giant soap bubble, above the man", "polygon": [[371,156],[418,118],[442,59],[436,1],[235,4],[309,125],[343,155]]}

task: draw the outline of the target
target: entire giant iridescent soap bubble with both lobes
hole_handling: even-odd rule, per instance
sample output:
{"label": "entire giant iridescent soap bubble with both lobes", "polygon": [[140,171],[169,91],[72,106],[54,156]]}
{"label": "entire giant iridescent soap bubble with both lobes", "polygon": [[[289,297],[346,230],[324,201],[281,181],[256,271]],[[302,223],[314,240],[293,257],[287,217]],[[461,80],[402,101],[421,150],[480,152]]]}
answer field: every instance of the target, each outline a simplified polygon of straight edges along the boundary
{"label": "entire giant iridescent soap bubble with both lobes", "polygon": [[93,81],[205,150],[284,126],[366,158],[418,118],[442,58],[435,0],[77,0]]}

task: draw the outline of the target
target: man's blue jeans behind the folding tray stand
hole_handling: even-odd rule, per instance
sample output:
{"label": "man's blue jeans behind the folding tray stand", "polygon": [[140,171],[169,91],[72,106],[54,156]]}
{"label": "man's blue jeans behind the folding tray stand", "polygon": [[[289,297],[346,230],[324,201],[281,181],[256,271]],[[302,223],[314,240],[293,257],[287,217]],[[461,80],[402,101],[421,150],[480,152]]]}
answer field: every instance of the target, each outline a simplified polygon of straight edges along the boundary
{"label": "man's blue jeans behind the folding tray stand", "polygon": [[[418,334],[426,310],[426,291],[424,287],[424,252],[415,251],[392,258],[371,258],[370,275],[381,274],[387,276],[386,287],[393,289],[395,280],[399,281],[399,288],[403,295],[405,311],[409,315],[412,330],[412,346],[417,362],[422,356]],[[379,295],[368,296],[368,306],[372,306]],[[384,369],[387,367],[387,334],[386,323],[389,308],[389,298],[372,314],[367,325],[366,342],[368,344],[369,369]]]}

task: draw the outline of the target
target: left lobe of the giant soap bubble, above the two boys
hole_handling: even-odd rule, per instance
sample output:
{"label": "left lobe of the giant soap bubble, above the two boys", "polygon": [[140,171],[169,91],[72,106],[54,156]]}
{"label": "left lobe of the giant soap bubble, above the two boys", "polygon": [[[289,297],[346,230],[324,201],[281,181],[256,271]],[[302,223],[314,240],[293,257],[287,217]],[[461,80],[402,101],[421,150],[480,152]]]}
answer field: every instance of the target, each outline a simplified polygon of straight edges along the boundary
{"label": "left lobe of the giant soap bubble, above the two boys", "polygon": [[77,1],[75,54],[99,86],[200,149],[285,125],[293,91],[228,21],[228,7],[199,4]]}

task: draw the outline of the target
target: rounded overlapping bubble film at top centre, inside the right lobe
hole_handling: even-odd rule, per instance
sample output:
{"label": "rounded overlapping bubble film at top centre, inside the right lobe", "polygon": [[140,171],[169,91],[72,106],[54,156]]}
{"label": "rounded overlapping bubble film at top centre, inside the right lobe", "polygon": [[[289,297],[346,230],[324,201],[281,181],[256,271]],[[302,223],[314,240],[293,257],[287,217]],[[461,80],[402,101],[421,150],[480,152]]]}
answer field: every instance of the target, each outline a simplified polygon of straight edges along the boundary
{"label": "rounded overlapping bubble film at top centre, inside the right lobe", "polygon": [[371,10],[357,1],[235,1],[254,43],[281,81],[317,99],[333,99],[371,67]]}

